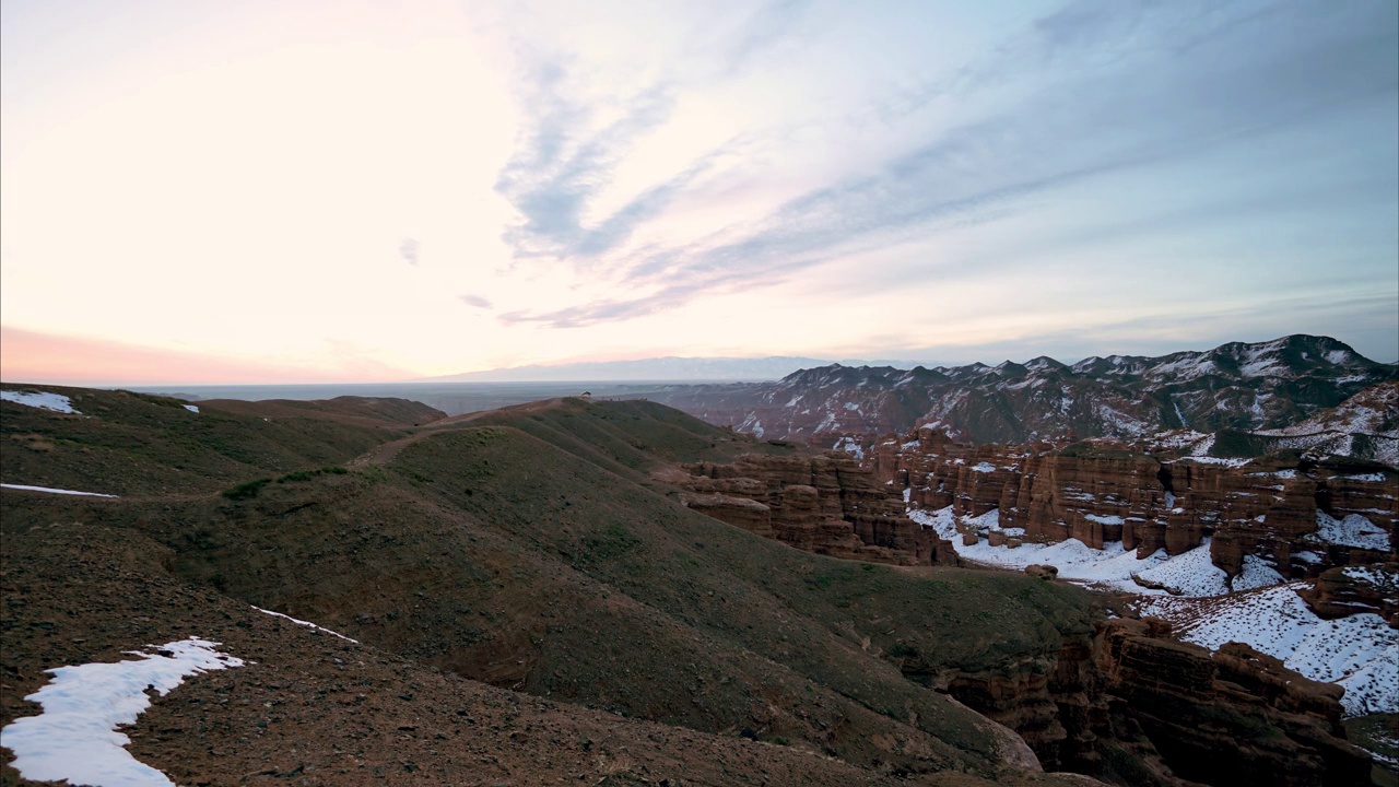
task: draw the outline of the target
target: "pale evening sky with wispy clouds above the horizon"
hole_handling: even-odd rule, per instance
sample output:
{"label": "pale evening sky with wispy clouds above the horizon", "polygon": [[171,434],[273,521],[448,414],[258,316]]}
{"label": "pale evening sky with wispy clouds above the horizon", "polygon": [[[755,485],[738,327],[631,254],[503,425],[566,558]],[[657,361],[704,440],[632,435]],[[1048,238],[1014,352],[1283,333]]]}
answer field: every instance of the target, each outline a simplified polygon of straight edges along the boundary
{"label": "pale evening sky with wispy clouds above the horizon", "polygon": [[1399,3],[4,0],[0,377],[1399,358]]}

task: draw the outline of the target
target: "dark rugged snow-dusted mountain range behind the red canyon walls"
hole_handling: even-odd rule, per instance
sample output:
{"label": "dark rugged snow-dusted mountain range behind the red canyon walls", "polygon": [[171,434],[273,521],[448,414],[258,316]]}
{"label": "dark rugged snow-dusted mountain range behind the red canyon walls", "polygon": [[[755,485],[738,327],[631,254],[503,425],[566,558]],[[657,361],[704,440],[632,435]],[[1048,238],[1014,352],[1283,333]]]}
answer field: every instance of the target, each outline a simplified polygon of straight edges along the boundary
{"label": "dark rugged snow-dusted mountain range behind the red canyon walls", "polygon": [[1326,336],[1161,357],[1049,357],[996,367],[807,368],[778,382],[669,386],[653,401],[767,438],[825,443],[942,423],[977,443],[1140,438],[1158,430],[1279,430],[1399,379]]}

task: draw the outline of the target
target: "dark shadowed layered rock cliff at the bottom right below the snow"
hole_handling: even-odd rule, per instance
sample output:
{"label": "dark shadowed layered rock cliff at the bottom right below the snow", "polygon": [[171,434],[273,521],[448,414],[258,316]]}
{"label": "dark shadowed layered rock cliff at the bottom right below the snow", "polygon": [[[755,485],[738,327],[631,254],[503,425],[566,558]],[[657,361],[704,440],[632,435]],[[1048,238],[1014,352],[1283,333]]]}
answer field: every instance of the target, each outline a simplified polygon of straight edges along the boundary
{"label": "dark shadowed layered rock cliff at the bottom right below the snow", "polygon": [[1238,643],[1212,655],[1158,619],[1105,620],[1056,654],[933,681],[1016,730],[1048,770],[1147,786],[1370,783],[1337,686]]}

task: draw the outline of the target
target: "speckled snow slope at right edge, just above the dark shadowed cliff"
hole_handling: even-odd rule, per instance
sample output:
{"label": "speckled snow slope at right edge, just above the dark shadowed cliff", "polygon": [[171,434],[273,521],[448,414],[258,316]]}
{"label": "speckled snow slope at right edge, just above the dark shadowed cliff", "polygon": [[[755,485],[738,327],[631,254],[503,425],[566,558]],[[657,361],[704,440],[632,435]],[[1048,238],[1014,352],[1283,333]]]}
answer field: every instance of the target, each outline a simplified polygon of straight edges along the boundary
{"label": "speckled snow slope at right edge, just above the dark shadowed cliff", "polygon": [[1399,632],[1374,613],[1322,620],[1297,595],[1309,583],[1221,598],[1144,599],[1142,615],[1165,618],[1182,640],[1219,650],[1228,641],[1283,660],[1305,678],[1346,689],[1346,716],[1399,713]]}

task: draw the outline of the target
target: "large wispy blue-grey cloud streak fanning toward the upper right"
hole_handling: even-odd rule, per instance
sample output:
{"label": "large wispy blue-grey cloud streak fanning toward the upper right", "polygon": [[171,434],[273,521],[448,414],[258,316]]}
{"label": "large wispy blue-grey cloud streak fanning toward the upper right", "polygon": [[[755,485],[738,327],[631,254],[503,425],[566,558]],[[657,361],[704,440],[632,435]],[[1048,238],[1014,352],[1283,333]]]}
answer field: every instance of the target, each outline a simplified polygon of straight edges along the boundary
{"label": "large wispy blue-grey cloud streak fanning toward the upper right", "polygon": [[[1393,8],[1072,3],[1009,35],[989,57],[936,77],[888,115],[908,132],[932,123],[921,144],[722,232],[644,249],[627,249],[625,241],[665,217],[674,200],[695,197],[701,175],[726,150],[585,228],[589,200],[635,140],[667,120],[681,87],[658,84],[634,97],[616,123],[579,136],[575,125],[586,106],[560,92],[560,70],[546,69],[536,81],[546,109],[498,185],[525,216],[506,239],[518,258],[606,270],[621,295],[499,319],[553,328],[632,319],[782,281],[859,249],[1013,218],[1032,204],[1027,197],[1105,174],[1136,172],[1150,189],[1171,162],[1392,95],[1399,81]],[[781,20],[782,8],[772,14],[764,18]],[[781,27],[754,36],[776,41]],[[968,98],[978,91],[992,98]],[[965,120],[918,115],[947,97],[964,102]],[[883,101],[873,97],[849,116]]]}

